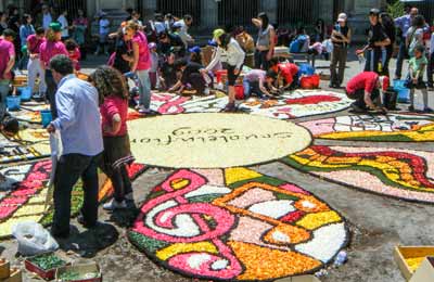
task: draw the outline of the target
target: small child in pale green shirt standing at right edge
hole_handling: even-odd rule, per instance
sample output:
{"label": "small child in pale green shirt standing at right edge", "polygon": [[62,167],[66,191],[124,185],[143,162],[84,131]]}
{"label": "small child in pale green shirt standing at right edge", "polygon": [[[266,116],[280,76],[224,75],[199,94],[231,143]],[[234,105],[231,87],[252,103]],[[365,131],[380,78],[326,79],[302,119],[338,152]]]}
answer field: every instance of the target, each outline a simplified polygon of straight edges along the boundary
{"label": "small child in pale green shirt standing at right edge", "polygon": [[423,81],[423,72],[425,70],[427,60],[425,56],[425,48],[421,44],[414,47],[414,56],[408,62],[409,74],[406,81],[406,87],[410,89],[410,106],[408,111],[414,112],[414,89],[420,89],[423,94],[423,112],[432,113],[427,106],[427,89]]}

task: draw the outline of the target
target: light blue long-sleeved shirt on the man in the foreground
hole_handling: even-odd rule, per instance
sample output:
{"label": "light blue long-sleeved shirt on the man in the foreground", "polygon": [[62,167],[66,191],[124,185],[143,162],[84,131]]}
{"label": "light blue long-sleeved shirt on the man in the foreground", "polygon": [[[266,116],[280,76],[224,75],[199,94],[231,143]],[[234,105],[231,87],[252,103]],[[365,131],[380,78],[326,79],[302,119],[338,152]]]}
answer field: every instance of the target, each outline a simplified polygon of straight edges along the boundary
{"label": "light blue long-sleeved shirt on the man in the foreground", "polygon": [[98,91],[89,82],[68,75],[55,93],[59,117],[52,121],[60,130],[63,155],[94,156],[103,151]]}

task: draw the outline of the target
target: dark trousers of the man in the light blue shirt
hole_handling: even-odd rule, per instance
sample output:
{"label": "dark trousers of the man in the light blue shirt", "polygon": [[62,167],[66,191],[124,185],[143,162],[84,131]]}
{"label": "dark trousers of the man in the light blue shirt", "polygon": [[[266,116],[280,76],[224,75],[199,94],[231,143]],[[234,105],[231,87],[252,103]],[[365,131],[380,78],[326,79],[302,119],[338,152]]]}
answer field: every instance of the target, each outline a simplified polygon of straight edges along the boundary
{"label": "dark trousers of the man in the light blue shirt", "polygon": [[61,156],[54,178],[54,216],[53,231],[69,231],[71,196],[73,187],[81,178],[85,200],[81,215],[85,222],[92,226],[98,220],[98,156],[67,154]]}

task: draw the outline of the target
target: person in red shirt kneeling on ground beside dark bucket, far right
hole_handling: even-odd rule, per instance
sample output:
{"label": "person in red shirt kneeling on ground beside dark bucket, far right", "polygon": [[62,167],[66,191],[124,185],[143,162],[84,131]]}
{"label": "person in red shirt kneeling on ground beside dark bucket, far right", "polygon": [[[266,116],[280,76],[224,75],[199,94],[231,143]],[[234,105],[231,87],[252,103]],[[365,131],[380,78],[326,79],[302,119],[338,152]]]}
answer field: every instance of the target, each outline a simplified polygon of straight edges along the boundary
{"label": "person in red shirt kneeling on ground beside dark bucket, far right", "polygon": [[346,94],[356,100],[352,104],[354,112],[362,113],[369,110],[383,112],[386,110],[379,106],[380,89],[385,92],[390,86],[388,77],[379,76],[374,72],[363,72],[353,77],[346,85]]}

